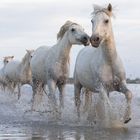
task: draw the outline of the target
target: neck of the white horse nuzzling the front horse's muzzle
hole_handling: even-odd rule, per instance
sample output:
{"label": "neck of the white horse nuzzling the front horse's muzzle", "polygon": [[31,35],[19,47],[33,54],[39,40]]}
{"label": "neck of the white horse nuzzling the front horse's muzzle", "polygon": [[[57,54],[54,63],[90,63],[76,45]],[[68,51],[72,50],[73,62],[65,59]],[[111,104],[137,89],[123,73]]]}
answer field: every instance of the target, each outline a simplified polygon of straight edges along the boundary
{"label": "neck of the white horse nuzzling the front horse's muzzle", "polygon": [[70,55],[70,50],[72,47],[72,44],[68,40],[67,33],[63,36],[63,38],[58,42],[57,44],[59,47],[58,49],[58,59],[62,64],[67,64],[69,63],[69,55]]}

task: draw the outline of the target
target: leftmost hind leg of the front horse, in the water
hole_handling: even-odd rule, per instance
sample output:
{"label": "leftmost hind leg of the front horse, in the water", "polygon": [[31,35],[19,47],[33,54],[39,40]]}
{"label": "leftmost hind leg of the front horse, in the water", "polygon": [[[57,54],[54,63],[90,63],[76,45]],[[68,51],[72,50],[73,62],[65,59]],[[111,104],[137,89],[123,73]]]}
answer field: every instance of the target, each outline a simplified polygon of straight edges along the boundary
{"label": "leftmost hind leg of the front horse, in the water", "polygon": [[74,84],[74,96],[75,96],[75,106],[77,107],[78,119],[80,119],[80,93],[82,85],[79,82]]}

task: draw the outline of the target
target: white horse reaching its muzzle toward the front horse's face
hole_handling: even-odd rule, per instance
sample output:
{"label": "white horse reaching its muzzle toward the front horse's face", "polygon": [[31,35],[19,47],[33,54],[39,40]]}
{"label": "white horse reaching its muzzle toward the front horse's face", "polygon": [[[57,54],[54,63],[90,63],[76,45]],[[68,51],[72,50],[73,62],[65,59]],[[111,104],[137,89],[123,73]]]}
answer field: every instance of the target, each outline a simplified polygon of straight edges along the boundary
{"label": "white horse reaching its muzzle toward the front horse's face", "polygon": [[36,50],[32,60],[31,68],[33,74],[33,105],[37,94],[38,81],[42,87],[48,85],[49,99],[52,105],[56,105],[55,91],[58,87],[60,92],[60,106],[63,106],[63,94],[66,79],[69,76],[70,50],[73,44],[89,45],[89,36],[77,23],[67,21],[57,34],[58,42],[50,48],[39,48]]}

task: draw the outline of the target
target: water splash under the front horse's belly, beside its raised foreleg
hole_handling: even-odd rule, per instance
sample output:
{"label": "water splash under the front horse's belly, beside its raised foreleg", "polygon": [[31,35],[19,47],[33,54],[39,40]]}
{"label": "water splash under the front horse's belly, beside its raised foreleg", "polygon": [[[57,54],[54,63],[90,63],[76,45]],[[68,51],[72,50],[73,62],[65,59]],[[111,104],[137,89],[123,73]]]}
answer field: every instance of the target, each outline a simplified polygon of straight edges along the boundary
{"label": "water splash under the front horse's belly, beside its raised foreleg", "polygon": [[[114,92],[115,94],[116,92]],[[120,96],[114,97],[114,95],[108,98],[104,87],[100,88],[99,93],[93,94],[92,104],[88,110],[88,120],[96,122],[96,127],[112,128],[124,126],[122,120],[125,110],[124,104],[122,104],[124,100],[122,101]],[[118,99],[121,99],[122,102],[118,101]]]}

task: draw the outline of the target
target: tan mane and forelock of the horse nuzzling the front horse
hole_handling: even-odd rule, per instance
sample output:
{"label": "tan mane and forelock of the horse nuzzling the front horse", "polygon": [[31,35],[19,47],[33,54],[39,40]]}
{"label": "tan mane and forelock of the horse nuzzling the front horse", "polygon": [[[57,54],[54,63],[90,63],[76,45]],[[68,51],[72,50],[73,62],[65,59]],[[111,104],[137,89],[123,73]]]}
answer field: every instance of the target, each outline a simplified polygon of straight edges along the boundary
{"label": "tan mane and forelock of the horse nuzzling the front horse", "polygon": [[71,22],[71,21],[67,21],[59,30],[59,32],[57,33],[57,40],[58,39],[62,39],[65,32],[69,29],[69,27],[71,27],[72,25],[78,25],[77,23]]}

